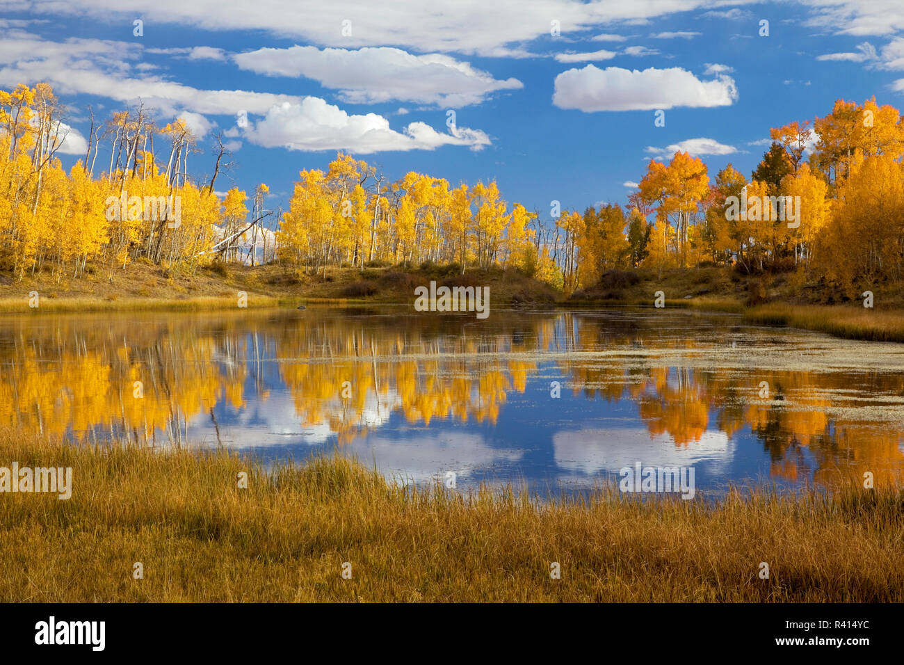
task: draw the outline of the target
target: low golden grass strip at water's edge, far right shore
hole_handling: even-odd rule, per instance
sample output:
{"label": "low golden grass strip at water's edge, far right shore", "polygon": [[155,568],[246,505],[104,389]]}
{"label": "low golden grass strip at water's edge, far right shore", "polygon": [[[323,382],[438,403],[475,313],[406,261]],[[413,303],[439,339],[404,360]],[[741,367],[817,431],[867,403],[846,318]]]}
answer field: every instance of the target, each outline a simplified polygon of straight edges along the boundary
{"label": "low golden grass strip at water's edge, far right shore", "polygon": [[768,326],[790,326],[836,337],[876,342],[904,342],[904,310],[883,311],[844,305],[763,305],[744,319]]}

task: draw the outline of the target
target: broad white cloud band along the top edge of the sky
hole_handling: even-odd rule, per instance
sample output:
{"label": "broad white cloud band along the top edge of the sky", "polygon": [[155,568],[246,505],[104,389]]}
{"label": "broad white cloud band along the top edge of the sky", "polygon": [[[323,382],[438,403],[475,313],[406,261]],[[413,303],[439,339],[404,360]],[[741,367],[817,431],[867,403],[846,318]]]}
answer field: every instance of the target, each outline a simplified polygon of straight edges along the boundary
{"label": "broad white cloud band along the top edge of the sky", "polygon": [[[300,43],[342,48],[394,45],[418,52],[524,56],[523,45],[549,38],[550,21],[563,35],[606,30],[612,24],[646,24],[649,19],[718,5],[718,0],[67,0],[30,3],[33,14],[71,14],[107,22],[141,16],[146,24],[192,25],[205,30],[263,30]],[[343,35],[342,22],[352,21]]]}

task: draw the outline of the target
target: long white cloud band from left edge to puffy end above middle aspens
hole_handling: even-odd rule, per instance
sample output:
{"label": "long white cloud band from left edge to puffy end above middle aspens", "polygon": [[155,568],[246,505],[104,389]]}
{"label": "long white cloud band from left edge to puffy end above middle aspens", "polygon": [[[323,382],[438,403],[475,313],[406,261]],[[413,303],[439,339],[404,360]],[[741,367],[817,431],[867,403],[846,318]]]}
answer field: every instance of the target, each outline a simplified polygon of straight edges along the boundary
{"label": "long white cloud band from left edge to puffy end above middle aspens", "polygon": [[[58,94],[83,93],[127,103],[141,100],[146,108],[154,108],[164,116],[184,118],[199,138],[216,125],[206,116],[234,116],[236,126],[226,131],[228,138],[244,138],[268,147],[345,148],[367,154],[381,150],[432,150],[447,145],[479,150],[490,145],[490,139],[478,129],[457,127],[447,134],[423,122],[412,122],[401,131],[394,131],[389,121],[379,115],[349,115],[315,97],[198,90],[157,76],[134,76],[130,62],[140,56],[140,45],[130,43],[82,39],[54,43],[14,33],[0,38],[0,86],[47,81]],[[471,71],[466,63],[459,64]],[[254,122],[249,116],[264,118]],[[231,146],[234,149],[237,144],[233,142]],[[65,149],[78,154],[87,145],[80,145],[73,134]]]}

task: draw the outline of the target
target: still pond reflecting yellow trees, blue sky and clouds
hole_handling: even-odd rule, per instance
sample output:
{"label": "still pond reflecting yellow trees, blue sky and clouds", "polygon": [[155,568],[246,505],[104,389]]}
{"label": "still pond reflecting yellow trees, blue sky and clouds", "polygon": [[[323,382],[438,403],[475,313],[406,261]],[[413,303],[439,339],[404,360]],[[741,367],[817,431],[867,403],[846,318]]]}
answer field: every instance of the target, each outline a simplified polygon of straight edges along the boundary
{"label": "still pond reflecting yellow trees, blue sky and clouds", "polygon": [[831,488],[904,470],[904,345],[669,309],[406,307],[0,318],[0,425],[89,441],[338,450],[457,489]]}

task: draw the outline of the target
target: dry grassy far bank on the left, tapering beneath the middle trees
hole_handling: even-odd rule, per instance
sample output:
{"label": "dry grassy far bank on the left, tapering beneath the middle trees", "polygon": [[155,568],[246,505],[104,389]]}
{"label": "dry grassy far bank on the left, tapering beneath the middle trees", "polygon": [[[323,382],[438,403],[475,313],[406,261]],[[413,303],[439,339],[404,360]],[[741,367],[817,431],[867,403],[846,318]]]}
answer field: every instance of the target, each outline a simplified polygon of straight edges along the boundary
{"label": "dry grassy far bank on the left, tapering beneath the middle trees", "polygon": [[[77,280],[57,280],[44,271],[27,273],[16,280],[0,271],[0,314],[22,312],[85,312],[135,310],[232,309],[238,293],[248,293],[248,307],[321,304],[407,304],[414,302],[414,287],[430,280],[470,280],[490,288],[494,307],[516,303],[550,304],[560,292],[519,271],[469,270],[466,276],[449,276],[449,268],[400,267],[362,272],[332,268],[323,275],[298,275],[285,267],[268,264],[229,264],[221,269],[201,269],[192,274],[173,273],[136,261],[126,270],[104,266]],[[399,279],[401,278],[401,279]],[[370,285],[370,289],[363,290]],[[40,307],[29,307],[29,294],[40,294]],[[351,296],[351,297],[350,297]]]}

